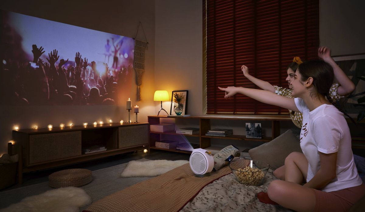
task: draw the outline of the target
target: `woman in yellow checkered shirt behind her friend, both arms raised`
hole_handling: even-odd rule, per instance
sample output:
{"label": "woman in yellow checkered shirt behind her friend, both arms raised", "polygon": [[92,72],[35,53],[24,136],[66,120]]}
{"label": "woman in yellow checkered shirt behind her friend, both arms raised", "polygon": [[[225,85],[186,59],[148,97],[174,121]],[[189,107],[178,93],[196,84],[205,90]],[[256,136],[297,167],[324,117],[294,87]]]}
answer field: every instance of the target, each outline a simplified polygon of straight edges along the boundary
{"label": "woman in yellow checkered shirt behind her friend, both arms raised", "polygon": [[[331,97],[332,101],[336,102],[341,97],[348,95],[349,93],[353,92],[355,89],[354,83],[346,76],[346,74],[342,71],[342,69],[335,63],[335,61],[331,57],[331,49],[328,47],[319,47],[318,48],[318,57],[322,60],[329,63],[334,71],[335,79],[338,83],[333,83],[329,96]],[[266,91],[271,91],[273,93],[277,93],[281,96],[292,97],[292,85],[290,85],[291,81],[294,79],[294,74],[296,69],[298,68],[299,64],[303,63],[299,57],[294,57],[293,62],[288,65],[287,73],[288,77],[285,79],[288,82],[289,88],[278,87],[276,85],[271,85],[270,83],[259,80],[249,74],[248,68],[245,65],[242,65],[241,69],[243,71],[243,75],[247,77],[251,82],[255,85],[264,89]],[[290,117],[295,124],[296,127],[301,128],[303,116],[300,112],[294,112],[289,110]]]}

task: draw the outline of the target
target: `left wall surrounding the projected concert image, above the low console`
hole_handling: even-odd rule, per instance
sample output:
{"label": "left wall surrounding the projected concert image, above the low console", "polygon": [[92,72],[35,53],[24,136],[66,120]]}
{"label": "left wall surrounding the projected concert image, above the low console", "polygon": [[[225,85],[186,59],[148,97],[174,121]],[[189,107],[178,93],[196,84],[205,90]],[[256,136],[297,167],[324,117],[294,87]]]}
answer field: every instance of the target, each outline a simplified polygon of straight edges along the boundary
{"label": "left wall surrounding the projected concert image, above the low console", "polygon": [[[154,51],[155,51],[155,2],[154,0],[118,0],[118,1],[74,1],[50,3],[46,0],[3,0],[0,9],[18,12],[24,15],[72,24],[98,31],[134,37],[139,21],[142,22],[149,42],[146,51],[145,67],[141,89],[142,101],[136,102],[137,85],[132,79],[130,97],[132,104],[140,107],[138,121],[147,122],[147,116],[154,113]],[[142,29],[140,29],[142,32]],[[138,33],[137,39],[144,39]],[[87,38],[85,38],[87,39]],[[135,74],[134,74],[135,76]],[[14,124],[20,128],[32,125],[47,126],[72,121],[76,125],[83,121],[104,120],[111,118],[115,122],[127,120],[126,104],[118,106],[7,106],[0,105],[0,155],[7,152],[7,143],[12,139]],[[132,121],[135,116],[132,114]]]}

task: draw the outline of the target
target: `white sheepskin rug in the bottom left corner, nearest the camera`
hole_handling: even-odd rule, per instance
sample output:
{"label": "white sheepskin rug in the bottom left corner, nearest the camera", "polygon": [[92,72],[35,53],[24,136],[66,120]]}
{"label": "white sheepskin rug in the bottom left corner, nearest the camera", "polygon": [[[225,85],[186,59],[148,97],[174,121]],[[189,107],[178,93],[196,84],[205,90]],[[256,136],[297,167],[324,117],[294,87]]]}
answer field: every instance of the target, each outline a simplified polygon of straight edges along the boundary
{"label": "white sheepskin rug in the bottom left corner, nearest the camera", "polygon": [[80,207],[91,203],[91,197],[82,188],[64,187],[52,189],[24,198],[16,204],[0,210],[10,211],[57,211],[57,212],[78,212]]}

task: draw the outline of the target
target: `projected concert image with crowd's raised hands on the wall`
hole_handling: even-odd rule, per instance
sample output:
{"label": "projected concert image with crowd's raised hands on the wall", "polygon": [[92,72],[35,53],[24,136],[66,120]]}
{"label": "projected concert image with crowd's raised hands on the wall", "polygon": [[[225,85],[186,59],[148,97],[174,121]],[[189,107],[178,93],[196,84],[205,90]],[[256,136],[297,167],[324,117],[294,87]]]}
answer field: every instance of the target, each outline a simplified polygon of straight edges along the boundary
{"label": "projected concert image with crowd's raised hands on the wall", "polygon": [[130,97],[130,37],[0,10],[3,105],[115,105]]}

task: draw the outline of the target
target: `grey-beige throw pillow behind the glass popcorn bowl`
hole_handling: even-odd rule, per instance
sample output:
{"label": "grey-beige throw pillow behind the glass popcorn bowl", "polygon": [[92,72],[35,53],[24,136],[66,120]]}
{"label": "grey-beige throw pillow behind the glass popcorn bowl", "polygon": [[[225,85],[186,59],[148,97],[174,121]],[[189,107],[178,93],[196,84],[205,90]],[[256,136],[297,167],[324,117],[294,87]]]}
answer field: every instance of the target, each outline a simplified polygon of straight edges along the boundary
{"label": "grey-beige throw pillow behind the glass popcorn bowl", "polygon": [[289,129],[274,140],[250,149],[252,160],[265,161],[270,169],[277,169],[284,165],[285,158],[292,152],[302,152],[299,139]]}

